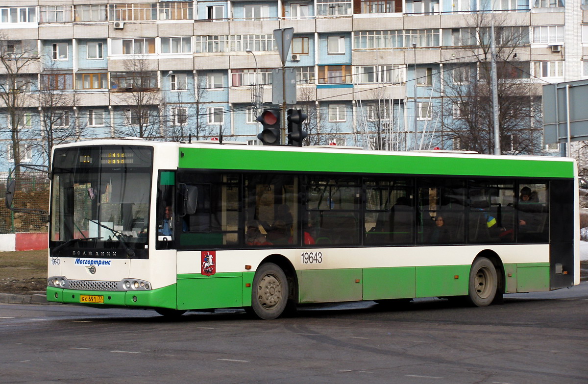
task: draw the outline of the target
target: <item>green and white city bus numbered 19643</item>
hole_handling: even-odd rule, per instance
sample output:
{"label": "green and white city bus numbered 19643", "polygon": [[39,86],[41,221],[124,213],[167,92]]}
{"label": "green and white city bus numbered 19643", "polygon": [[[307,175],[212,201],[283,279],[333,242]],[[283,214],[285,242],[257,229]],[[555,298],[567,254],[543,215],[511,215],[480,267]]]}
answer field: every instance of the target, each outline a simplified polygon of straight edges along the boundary
{"label": "green and white city bus numbered 19643", "polygon": [[572,159],[238,143],[78,142],[53,153],[47,298],[245,308],[577,285]]}

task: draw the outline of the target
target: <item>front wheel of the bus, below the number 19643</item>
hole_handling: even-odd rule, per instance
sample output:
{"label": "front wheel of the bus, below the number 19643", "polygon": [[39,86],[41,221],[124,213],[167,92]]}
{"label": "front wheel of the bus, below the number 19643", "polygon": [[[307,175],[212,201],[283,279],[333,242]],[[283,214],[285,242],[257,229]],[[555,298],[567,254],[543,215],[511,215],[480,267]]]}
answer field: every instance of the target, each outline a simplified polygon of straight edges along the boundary
{"label": "front wheel of the bus, below the number 19643", "polygon": [[251,286],[251,307],[248,313],[263,320],[282,315],[288,303],[288,279],[278,265],[265,263],[259,267]]}

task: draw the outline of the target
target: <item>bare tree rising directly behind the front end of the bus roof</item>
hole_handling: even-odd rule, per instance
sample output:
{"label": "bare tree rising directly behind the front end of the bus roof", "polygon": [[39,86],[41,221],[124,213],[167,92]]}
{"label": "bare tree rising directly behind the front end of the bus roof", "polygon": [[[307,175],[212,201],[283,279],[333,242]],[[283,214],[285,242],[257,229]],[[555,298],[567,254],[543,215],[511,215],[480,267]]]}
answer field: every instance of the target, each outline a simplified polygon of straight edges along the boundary
{"label": "bare tree rising directly behind the front end of the bus roof", "polygon": [[159,111],[162,97],[158,88],[158,72],[145,56],[136,55],[123,63],[125,72],[111,74],[111,88],[121,95],[123,123],[114,126],[115,135],[140,138],[159,138],[162,135],[162,116]]}

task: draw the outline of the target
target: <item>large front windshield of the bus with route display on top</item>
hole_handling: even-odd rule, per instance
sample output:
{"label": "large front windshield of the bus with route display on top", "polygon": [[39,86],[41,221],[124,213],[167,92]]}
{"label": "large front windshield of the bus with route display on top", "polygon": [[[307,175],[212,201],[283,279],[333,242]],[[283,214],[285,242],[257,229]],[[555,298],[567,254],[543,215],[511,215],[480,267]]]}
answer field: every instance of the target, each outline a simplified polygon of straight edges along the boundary
{"label": "large front windshield of the bus with route display on top", "polygon": [[152,158],[149,147],[57,149],[51,196],[54,252],[147,258]]}

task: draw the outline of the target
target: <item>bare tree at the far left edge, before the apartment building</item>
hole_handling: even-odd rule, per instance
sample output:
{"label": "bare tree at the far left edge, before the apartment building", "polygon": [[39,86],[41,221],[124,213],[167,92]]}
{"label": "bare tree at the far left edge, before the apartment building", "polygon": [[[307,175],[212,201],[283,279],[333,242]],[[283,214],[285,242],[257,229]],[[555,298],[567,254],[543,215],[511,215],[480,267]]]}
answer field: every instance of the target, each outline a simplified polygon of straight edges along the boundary
{"label": "bare tree at the far left edge, before the apartment building", "polygon": [[22,162],[28,148],[24,142],[31,139],[31,95],[38,72],[39,55],[34,41],[13,41],[0,32],[0,102],[6,111],[7,126],[0,128],[9,133],[9,151],[15,164]]}

